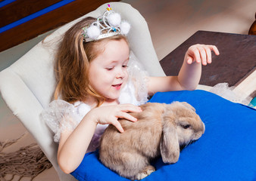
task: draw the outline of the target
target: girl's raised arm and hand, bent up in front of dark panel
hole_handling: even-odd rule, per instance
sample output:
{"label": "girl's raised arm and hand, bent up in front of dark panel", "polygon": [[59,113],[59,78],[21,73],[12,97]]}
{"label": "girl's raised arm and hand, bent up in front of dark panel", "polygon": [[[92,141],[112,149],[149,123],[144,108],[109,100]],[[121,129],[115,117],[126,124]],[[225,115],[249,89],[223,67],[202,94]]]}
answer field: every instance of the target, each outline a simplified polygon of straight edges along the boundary
{"label": "girl's raised arm and hand, bent up in front of dark panel", "polygon": [[172,90],[195,90],[201,78],[201,64],[211,63],[211,51],[219,55],[214,45],[195,44],[186,51],[179,75],[167,77],[149,77],[148,94]]}

